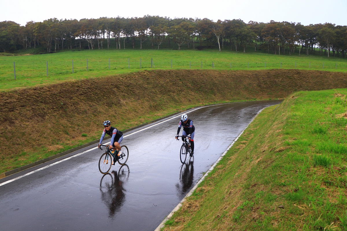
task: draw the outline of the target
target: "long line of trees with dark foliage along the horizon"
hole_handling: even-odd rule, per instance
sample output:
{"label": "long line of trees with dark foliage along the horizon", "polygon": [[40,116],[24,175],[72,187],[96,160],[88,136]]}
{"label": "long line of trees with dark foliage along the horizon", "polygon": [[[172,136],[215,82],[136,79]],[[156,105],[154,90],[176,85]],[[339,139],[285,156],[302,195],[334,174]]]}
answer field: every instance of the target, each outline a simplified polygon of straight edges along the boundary
{"label": "long line of trees with dark foliage along the horizon", "polygon": [[[116,48],[125,49],[125,42],[139,42],[140,49],[145,41],[150,41],[152,48],[160,48],[165,41],[176,43],[178,50],[184,44],[188,48],[214,47],[219,50],[224,46],[234,51],[265,50],[274,54],[291,54],[316,52],[346,57],[347,26],[331,23],[310,24],[289,23],[287,21],[258,23],[241,19],[218,20],[208,18],[167,18],[146,15],[140,18],[99,18],[58,20],[51,18],[43,22],[29,21],[20,26],[13,21],[0,22],[0,52],[13,52],[28,47],[43,46],[47,52],[81,49],[87,43],[89,49],[109,48],[112,42]],[[82,45],[81,45],[82,43]]]}

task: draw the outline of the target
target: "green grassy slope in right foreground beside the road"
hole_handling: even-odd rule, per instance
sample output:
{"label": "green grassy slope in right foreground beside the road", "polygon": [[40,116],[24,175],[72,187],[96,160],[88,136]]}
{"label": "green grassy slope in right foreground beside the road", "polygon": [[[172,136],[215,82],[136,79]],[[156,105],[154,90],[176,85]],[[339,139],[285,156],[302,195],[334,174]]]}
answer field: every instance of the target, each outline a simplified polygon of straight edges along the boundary
{"label": "green grassy slope in right foreground beside the road", "polygon": [[346,94],[264,109],[164,230],[347,230]]}

